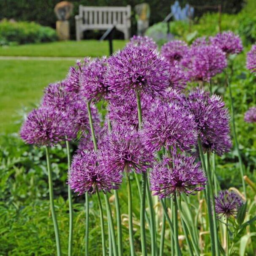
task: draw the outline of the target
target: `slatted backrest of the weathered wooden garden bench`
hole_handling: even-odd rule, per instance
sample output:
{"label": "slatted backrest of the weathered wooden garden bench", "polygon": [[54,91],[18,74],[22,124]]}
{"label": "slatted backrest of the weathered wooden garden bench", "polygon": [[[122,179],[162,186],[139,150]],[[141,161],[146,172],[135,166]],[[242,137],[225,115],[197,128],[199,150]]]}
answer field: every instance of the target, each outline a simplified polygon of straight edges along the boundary
{"label": "slatted backrest of the weathered wooden garden bench", "polygon": [[87,29],[108,29],[112,25],[118,28],[131,27],[131,6],[95,7],[79,5],[82,26]]}

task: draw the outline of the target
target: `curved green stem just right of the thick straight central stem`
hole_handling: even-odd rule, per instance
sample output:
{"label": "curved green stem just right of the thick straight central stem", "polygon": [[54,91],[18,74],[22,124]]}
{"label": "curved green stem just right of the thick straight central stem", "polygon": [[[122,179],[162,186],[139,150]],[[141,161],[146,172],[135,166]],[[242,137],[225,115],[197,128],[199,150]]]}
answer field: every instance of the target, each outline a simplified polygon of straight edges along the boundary
{"label": "curved green stem just right of the thick straight central stem", "polygon": [[149,189],[149,182],[147,179],[147,184],[146,184],[146,193],[147,193],[147,201],[149,202],[149,209],[150,209],[150,234],[151,234],[151,251],[152,251],[152,256],[158,255],[157,253],[157,245],[156,245],[156,234],[155,234],[155,214],[154,214],[154,208],[153,208],[153,202],[152,202],[152,197],[150,194],[150,189]]}

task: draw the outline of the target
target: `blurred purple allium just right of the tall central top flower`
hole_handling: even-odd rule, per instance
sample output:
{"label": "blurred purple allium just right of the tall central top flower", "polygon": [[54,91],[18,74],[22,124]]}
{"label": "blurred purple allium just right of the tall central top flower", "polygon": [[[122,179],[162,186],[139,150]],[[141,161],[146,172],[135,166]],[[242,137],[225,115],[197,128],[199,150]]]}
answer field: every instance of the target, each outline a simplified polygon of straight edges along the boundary
{"label": "blurred purple allium just right of the tall central top flower", "polygon": [[170,41],[162,46],[161,54],[169,63],[180,61],[188,52],[188,45],[181,40]]}

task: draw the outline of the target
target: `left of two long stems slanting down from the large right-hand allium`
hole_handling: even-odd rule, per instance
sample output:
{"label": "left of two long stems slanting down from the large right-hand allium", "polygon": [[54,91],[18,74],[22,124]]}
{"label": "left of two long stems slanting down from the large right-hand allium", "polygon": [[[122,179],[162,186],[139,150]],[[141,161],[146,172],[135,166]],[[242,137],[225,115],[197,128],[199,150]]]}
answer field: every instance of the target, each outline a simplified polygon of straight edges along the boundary
{"label": "left of two long stems slanting down from the large right-hand allium", "polygon": [[[198,139],[198,147],[199,147],[199,154],[200,154],[200,159],[202,163],[202,167],[204,170],[204,173],[207,175],[207,169],[204,161],[204,152],[203,152],[203,147],[202,147],[202,142],[201,139]],[[209,179],[209,177],[207,177]],[[210,237],[211,237],[211,251],[212,251],[212,256],[215,256],[215,232],[214,232],[214,227],[213,227],[213,220],[212,220],[212,205],[210,201],[210,188],[209,185],[205,185],[205,190],[204,190],[204,196],[206,199],[207,203],[207,213],[208,213],[208,219],[209,219],[209,225],[210,225]]]}

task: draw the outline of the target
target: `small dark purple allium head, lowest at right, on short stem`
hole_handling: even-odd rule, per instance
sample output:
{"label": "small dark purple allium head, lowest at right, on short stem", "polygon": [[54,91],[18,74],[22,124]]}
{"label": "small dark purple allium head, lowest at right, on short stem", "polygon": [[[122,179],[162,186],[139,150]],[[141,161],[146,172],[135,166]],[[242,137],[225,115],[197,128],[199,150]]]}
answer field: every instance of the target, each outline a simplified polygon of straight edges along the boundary
{"label": "small dark purple allium head, lowest at right, on short stem", "polygon": [[241,196],[234,191],[220,191],[215,196],[215,211],[220,217],[224,215],[226,218],[235,217],[237,210],[243,204]]}

